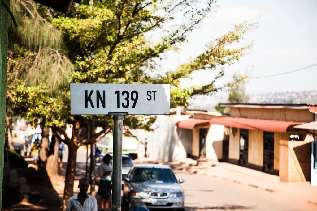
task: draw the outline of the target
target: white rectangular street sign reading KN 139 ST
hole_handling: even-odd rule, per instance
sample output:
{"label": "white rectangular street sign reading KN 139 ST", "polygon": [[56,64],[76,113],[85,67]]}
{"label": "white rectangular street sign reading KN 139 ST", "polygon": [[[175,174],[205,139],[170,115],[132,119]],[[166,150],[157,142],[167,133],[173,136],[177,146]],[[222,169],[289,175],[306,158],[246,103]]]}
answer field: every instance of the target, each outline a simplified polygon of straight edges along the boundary
{"label": "white rectangular street sign reading KN 139 ST", "polygon": [[108,115],[170,113],[169,84],[70,84],[70,113]]}

